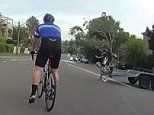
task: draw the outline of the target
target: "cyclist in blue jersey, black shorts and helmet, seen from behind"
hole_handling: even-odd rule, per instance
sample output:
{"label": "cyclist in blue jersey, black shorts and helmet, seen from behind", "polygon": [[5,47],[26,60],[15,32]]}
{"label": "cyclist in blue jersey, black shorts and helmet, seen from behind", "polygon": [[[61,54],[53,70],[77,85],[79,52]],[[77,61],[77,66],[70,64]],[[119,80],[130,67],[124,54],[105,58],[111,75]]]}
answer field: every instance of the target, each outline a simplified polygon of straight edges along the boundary
{"label": "cyclist in blue jersey, black shorts and helmet, seen from behind", "polygon": [[41,44],[33,69],[32,90],[28,103],[34,103],[35,101],[35,93],[41,79],[41,73],[51,54],[53,56],[51,71],[55,79],[55,86],[59,82],[58,67],[61,57],[61,30],[53,23],[55,18],[51,14],[45,14],[43,21],[44,23],[37,27],[32,40],[31,54],[35,53],[35,47],[38,44],[39,38],[41,39]]}

